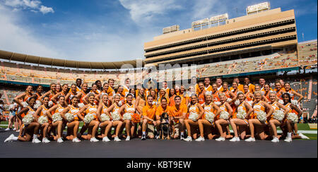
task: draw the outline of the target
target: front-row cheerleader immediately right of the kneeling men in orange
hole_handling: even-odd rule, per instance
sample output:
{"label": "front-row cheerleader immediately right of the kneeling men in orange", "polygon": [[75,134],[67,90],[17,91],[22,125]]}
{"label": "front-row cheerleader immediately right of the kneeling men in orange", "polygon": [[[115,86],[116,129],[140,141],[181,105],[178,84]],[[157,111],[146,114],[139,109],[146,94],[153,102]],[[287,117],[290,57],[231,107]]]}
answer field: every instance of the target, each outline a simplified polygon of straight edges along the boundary
{"label": "front-row cheerleader immediately right of the kneeling men in orange", "polygon": [[196,130],[196,127],[199,127],[198,120],[201,119],[204,114],[204,109],[201,104],[198,103],[198,97],[196,94],[192,94],[191,103],[189,105],[189,118],[184,120],[184,124],[187,128],[188,137],[184,141],[192,141],[192,137],[196,139],[196,134],[192,135],[192,131]]}

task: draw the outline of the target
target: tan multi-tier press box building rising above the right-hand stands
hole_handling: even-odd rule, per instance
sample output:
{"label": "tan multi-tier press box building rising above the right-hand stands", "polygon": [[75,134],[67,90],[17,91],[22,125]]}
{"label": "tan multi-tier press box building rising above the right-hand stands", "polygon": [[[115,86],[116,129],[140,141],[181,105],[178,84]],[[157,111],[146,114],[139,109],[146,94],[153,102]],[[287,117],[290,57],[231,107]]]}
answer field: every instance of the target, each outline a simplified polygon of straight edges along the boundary
{"label": "tan multi-tier press box building rising above the right-hand stands", "polygon": [[[216,19],[223,25],[213,27]],[[200,23],[199,30],[196,25]],[[204,27],[207,27],[203,29]],[[176,27],[179,28],[179,27]],[[192,23],[187,30],[172,30],[144,44],[146,66],[160,63],[211,63],[297,49],[293,10],[281,8],[228,19],[228,15]]]}

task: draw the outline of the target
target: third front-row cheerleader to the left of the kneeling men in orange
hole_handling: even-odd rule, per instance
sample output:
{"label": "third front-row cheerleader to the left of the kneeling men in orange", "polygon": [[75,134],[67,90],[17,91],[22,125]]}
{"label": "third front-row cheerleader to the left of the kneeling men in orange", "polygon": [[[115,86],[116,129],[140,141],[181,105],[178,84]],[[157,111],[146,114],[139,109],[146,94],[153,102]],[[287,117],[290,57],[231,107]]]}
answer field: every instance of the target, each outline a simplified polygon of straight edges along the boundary
{"label": "third front-row cheerleader to the left of the kneeling men in orange", "polygon": [[[110,142],[110,139],[108,138],[108,133],[110,132],[110,129],[112,129],[112,116],[110,114],[107,115],[106,111],[110,107],[109,99],[107,94],[102,95],[102,99],[100,100],[100,105],[98,106],[98,119],[100,122],[100,133],[102,133],[102,142]],[[102,115],[108,116],[110,118],[109,120],[103,121]]]}

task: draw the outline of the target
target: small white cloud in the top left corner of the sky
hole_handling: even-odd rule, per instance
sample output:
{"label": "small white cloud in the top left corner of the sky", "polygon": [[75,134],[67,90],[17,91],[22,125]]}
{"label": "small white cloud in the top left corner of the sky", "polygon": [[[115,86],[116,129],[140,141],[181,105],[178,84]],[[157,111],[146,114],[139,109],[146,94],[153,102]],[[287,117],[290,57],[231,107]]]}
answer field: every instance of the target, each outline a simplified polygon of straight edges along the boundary
{"label": "small white cloud in the top left corner of the sky", "polygon": [[42,6],[42,2],[38,0],[1,0],[0,2],[6,6],[11,6],[13,8],[13,11],[16,11],[19,8],[23,8],[30,9],[30,11],[34,13],[37,13],[39,11],[43,14],[54,13],[52,7]]}

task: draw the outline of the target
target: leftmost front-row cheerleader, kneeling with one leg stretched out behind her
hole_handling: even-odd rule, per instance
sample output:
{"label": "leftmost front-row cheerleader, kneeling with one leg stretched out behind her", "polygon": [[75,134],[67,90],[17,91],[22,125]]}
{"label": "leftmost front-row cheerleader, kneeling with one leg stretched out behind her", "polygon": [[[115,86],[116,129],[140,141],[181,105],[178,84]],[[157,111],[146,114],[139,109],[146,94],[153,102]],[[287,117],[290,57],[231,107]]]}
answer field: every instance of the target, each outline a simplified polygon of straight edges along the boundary
{"label": "leftmost front-row cheerleader, kneeling with one leg stretched out behind her", "polygon": [[[20,118],[21,120],[23,118],[25,118],[25,116],[33,116],[33,118],[35,119],[35,109],[34,109],[34,105],[35,105],[35,97],[30,97],[30,99],[28,99],[28,106],[24,107],[23,109],[21,109],[21,111],[18,112],[17,116],[18,118]],[[25,116],[23,116],[23,113],[25,114]],[[24,131],[25,131],[25,136],[19,135],[18,137],[15,137],[13,134],[10,135],[8,138],[6,138],[6,140],[4,140],[4,142],[12,142],[12,141],[21,141],[21,142],[28,142],[31,140],[32,136],[33,136],[33,143],[40,143],[41,141],[37,139],[37,134],[40,128],[40,124],[37,123],[35,120],[33,120],[31,123],[29,124],[24,124]]]}

